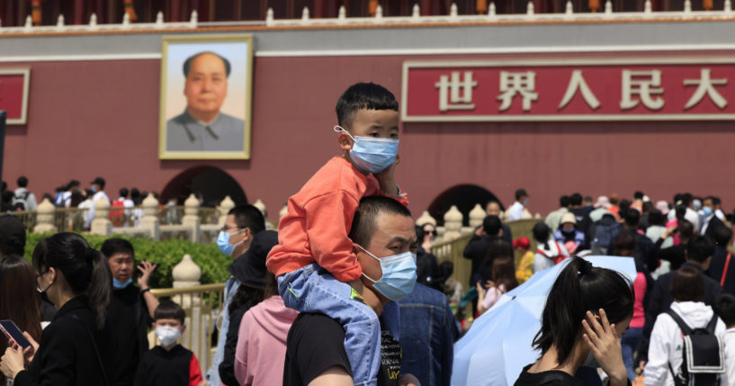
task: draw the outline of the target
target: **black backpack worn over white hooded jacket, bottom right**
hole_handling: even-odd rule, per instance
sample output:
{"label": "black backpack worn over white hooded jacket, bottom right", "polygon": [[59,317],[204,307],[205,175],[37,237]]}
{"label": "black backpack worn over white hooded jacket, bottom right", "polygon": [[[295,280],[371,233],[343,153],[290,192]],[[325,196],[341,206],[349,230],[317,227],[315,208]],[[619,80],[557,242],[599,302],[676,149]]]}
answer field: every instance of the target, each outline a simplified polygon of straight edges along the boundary
{"label": "black backpack worn over white hooded jacket, bottom right", "polygon": [[677,386],[717,386],[720,377],[725,373],[724,344],[720,337],[714,335],[717,326],[717,315],[713,315],[706,328],[689,328],[674,310],[667,310],[671,319],[677,322],[684,335],[682,345],[682,362],[678,373],[671,364],[668,371],[674,377]]}

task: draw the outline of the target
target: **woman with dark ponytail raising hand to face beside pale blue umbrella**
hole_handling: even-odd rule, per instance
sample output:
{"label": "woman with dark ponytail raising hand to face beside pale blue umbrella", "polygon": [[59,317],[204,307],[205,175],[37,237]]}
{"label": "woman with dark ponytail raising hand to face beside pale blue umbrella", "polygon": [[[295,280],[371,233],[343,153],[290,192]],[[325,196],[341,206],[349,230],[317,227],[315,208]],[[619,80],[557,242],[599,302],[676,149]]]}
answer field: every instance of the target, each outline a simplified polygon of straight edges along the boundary
{"label": "woman with dark ponytail raising hand to face beside pale blue umbrella", "polygon": [[592,358],[610,386],[629,384],[620,337],[631,322],[633,301],[631,283],[621,274],[573,258],[551,287],[533,339],[541,357],[524,367],[515,386],[581,386],[574,375]]}

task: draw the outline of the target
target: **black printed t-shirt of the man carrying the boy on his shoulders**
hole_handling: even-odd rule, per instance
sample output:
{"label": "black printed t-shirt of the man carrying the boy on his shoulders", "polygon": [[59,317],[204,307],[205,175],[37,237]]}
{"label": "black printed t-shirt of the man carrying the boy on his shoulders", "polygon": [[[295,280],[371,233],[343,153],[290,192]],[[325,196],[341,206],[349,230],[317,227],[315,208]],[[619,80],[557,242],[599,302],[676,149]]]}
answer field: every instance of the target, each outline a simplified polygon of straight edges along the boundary
{"label": "black printed t-shirt of the man carrying the boy on his shoulders", "polygon": [[[382,329],[379,386],[399,384],[400,345]],[[343,367],[352,376],[345,352],[345,330],[323,314],[301,313],[293,321],[286,341],[283,385],[307,385],[330,367]]]}

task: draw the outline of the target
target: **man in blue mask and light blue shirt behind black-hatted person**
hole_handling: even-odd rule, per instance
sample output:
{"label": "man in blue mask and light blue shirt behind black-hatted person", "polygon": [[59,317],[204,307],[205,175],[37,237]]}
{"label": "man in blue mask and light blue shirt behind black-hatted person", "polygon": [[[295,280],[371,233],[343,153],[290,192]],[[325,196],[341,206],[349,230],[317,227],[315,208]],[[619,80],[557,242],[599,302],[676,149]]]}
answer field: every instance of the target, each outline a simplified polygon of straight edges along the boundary
{"label": "man in blue mask and light blue shirt behind black-hatted person", "polygon": [[[220,248],[220,252],[227,256],[232,256],[237,262],[240,258],[246,255],[247,250],[253,243],[254,235],[264,229],[265,219],[260,210],[250,204],[236,206],[229,210],[228,215],[225,218],[225,225],[220,230],[220,235],[217,238],[217,247]],[[219,333],[217,351],[215,352],[211,367],[205,376],[206,380],[211,385],[222,384],[222,382],[220,382],[220,364],[225,358],[225,347],[227,344],[230,322],[230,303],[235,301],[234,298],[238,292],[248,292],[248,290],[251,290],[250,292],[255,292],[252,294],[255,298],[257,296],[263,296],[262,291],[260,292],[260,295],[258,295],[257,290],[253,290],[251,287],[246,287],[242,291],[239,291],[239,287],[240,282],[234,276],[230,276],[225,283],[224,305],[222,306],[222,311],[215,323]],[[237,307],[233,308],[233,310],[234,309],[237,309]],[[237,331],[237,328],[235,328],[235,331]],[[229,384],[228,382],[225,383]]]}

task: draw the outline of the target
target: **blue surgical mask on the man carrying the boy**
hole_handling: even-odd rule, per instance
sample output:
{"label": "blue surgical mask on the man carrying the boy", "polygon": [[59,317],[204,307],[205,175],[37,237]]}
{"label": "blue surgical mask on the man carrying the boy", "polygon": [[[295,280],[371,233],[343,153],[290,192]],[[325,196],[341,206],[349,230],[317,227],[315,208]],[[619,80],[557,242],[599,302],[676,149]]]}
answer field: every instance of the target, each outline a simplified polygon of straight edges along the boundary
{"label": "blue surgical mask on the man carrying the boy", "polygon": [[417,279],[415,253],[408,251],[398,255],[379,258],[372,255],[367,249],[357,244],[355,246],[381,263],[383,274],[380,280],[372,280],[371,277],[363,273],[363,276],[373,283],[372,288],[381,292],[383,296],[391,301],[399,301],[414,291],[414,285],[416,285]]}

